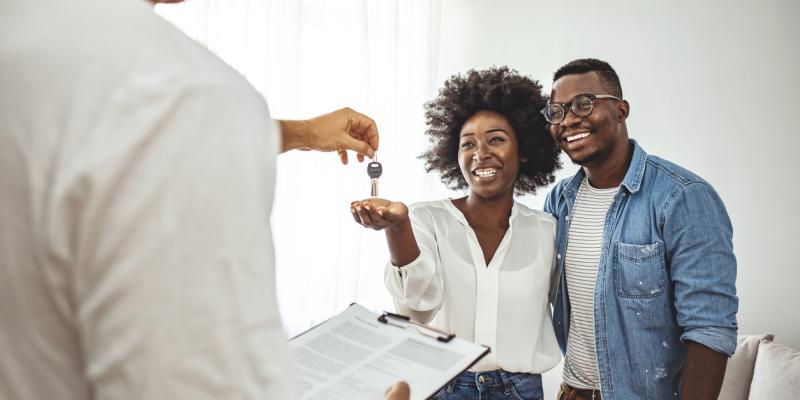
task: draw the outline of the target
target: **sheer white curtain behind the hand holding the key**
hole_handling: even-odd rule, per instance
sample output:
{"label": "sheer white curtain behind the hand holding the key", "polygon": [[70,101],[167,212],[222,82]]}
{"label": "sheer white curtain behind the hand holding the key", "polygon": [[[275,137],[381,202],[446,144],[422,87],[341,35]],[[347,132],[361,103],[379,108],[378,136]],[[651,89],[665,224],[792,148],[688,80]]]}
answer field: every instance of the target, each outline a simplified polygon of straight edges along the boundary
{"label": "sheer white curtain behind the hand holding the key", "polygon": [[[384,166],[381,197],[411,203],[451,195],[417,159],[428,142],[423,104],[439,82],[439,0],[188,0],[159,14],[242,73],[273,117],[348,106],[373,117]],[[352,200],[369,195],[366,163],[334,153],[278,158],[272,226],[278,300],[297,334],[359,302],[391,309],[384,234],[357,225]],[[265,288],[269,290],[269,288]]]}

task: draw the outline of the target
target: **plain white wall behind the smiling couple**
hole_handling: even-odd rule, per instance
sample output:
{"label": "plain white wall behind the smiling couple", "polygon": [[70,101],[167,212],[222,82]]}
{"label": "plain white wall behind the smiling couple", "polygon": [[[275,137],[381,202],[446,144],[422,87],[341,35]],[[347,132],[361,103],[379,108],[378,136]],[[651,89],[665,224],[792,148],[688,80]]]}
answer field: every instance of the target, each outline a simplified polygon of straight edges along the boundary
{"label": "plain white wall behind the smiling couple", "polygon": [[505,64],[549,91],[572,59],[611,63],[631,137],[725,201],[740,332],[800,348],[800,2],[443,0],[441,15],[439,82]]}

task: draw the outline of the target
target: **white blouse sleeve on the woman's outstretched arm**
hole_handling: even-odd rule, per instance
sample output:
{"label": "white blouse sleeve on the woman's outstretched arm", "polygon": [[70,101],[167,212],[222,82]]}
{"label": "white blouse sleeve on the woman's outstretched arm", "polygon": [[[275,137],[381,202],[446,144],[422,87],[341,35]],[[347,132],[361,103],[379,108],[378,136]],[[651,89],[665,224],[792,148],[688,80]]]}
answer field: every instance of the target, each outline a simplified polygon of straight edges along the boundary
{"label": "white blouse sleeve on the woman's outstretched arm", "polygon": [[420,322],[430,322],[444,301],[435,221],[427,207],[411,205],[409,219],[420,254],[405,266],[386,264],[384,282],[397,311]]}

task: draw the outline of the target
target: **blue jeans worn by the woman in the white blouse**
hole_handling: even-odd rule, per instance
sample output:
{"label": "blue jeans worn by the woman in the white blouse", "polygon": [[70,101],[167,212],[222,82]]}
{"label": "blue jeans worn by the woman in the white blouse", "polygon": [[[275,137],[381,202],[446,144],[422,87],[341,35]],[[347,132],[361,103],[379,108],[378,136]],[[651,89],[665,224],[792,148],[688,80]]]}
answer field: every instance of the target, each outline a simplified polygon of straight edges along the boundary
{"label": "blue jeans worn by the woman in the white blouse", "polygon": [[435,400],[541,400],[542,376],[502,369],[462,372],[433,398]]}

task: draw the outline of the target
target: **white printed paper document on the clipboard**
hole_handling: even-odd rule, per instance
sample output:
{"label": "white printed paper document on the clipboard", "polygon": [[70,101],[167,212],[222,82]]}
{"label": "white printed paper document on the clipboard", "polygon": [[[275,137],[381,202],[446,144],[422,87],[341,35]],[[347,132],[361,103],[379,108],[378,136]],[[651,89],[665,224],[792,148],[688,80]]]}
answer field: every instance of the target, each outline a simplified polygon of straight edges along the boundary
{"label": "white printed paper document on the clipboard", "polygon": [[380,315],[353,304],[293,338],[300,398],[381,400],[389,386],[404,380],[411,399],[422,400],[489,352],[392,315],[381,322]]}

